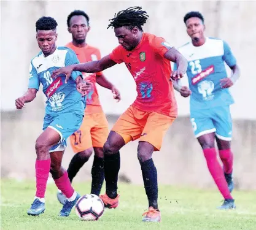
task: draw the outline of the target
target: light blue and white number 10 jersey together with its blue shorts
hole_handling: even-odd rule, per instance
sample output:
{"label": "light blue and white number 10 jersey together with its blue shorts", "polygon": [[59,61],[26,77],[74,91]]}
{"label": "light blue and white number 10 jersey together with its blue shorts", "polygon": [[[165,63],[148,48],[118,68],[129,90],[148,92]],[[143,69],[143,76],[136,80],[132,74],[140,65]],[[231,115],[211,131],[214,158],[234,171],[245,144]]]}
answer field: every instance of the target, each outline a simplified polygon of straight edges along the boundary
{"label": "light blue and white number 10 jersey together with its blue shorts", "polygon": [[77,63],[79,60],[76,53],[67,47],[57,47],[55,52],[47,57],[40,52],[30,63],[28,88],[39,90],[42,84],[47,98],[43,130],[52,128],[60,134],[60,142],[53,145],[50,152],[65,150],[66,139],[82,124],[85,105],[75,82],[82,73],[72,72],[68,83],[64,82],[64,75],[56,79],[51,78],[55,69]]}

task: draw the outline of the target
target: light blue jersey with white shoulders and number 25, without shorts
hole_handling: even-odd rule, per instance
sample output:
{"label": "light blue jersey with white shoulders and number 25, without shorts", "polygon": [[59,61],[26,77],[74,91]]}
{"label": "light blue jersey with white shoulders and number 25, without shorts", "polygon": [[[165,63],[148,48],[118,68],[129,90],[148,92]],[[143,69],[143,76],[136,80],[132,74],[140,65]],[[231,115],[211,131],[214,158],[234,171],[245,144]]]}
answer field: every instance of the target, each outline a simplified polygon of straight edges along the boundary
{"label": "light blue jersey with white shoulders and number 25, without shorts", "polygon": [[236,64],[236,58],[226,42],[207,37],[200,47],[188,42],[178,50],[188,60],[187,76],[192,91],[190,110],[233,104],[228,88],[220,87],[220,79],[227,77],[225,63],[230,67]]}

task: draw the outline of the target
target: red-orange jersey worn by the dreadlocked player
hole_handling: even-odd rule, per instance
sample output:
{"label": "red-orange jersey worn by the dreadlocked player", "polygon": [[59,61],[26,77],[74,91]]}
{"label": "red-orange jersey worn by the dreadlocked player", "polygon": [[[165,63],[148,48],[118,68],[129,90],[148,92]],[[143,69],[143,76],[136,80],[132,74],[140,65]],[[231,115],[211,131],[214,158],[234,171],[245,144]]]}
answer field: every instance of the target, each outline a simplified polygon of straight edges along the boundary
{"label": "red-orange jersey worn by the dreadlocked player", "polygon": [[171,63],[163,56],[171,48],[162,37],[143,33],[141,42],[132,51],[118,45],[110,57],[115,63],[125,63],[136,82],[138,96],[134,107],[177,117],[173,83],[169,81]]}

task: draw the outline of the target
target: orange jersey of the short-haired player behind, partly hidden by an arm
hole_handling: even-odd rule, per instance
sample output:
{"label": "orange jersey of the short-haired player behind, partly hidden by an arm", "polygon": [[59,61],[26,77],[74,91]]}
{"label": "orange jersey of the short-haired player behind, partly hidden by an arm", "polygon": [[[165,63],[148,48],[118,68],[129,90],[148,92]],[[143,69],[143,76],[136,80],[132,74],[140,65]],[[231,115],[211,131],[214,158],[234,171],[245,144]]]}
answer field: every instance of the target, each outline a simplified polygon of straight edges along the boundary
{"label": "orange jersey of the short-haired player behind, partly hidden by an arm", "polygon": [[[69,42],[66,47],[71,48],[72,50],[74,50],[74,52],[76,52],[77,58],[79,59],[80,63],[86,63],[87,61],[95,61],[97,59],[101,59],[101,53],[96,47],[91,47],[90,45],[86,45],[85,47],[76,47],[72,44],[72,42]],[[86,96],[87,100],[85,114],[99,113],[103,111],[99,102],[98,90],[96,88],[96,77],[101,74],[102,72],[98,72],[96,74],[83,73],[83,79],[91,82],[91,91]]]}

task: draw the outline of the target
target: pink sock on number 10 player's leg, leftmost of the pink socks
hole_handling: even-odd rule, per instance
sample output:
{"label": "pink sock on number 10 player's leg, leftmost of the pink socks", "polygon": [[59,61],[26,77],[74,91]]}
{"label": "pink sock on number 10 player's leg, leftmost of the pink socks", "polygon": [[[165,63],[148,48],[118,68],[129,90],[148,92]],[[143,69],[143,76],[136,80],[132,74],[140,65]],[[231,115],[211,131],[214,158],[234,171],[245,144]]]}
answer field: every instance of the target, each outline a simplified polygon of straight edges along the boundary
{"label": "pink sock on number 10 player's leg, leftmost of the pink socks", "polygon": [[36,196],[44,198],[51,159],[36,160]]}

